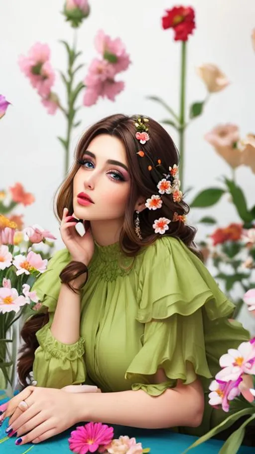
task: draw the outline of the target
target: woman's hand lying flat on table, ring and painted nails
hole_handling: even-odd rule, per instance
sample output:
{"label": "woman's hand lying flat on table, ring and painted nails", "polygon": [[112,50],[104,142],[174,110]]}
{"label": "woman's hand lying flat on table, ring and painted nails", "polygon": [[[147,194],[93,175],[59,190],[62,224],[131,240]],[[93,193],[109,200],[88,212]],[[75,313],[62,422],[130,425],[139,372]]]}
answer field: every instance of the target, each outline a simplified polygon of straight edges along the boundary
{"label": "woman's hand lying flat on table, ring and painted nails", "polygon": [[[21,401],[26,409],[21,411]],[[25,443],[40,443],[78,423],[79,393],[28,386],[8,403],[4,417],[10,416],[11,433]],[[28,407],[28,408],[27,408]],[[26,435],[24,435],[26,434]]]}

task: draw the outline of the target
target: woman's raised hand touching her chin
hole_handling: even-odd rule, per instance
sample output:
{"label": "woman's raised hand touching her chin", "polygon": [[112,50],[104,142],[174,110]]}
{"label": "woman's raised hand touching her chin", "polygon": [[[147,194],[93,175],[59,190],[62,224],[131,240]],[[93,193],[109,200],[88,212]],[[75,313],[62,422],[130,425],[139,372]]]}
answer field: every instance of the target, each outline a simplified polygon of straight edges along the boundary
{"label": "woman's raised hand touching her chin", "polygon": [[76,222],[69,222],[72,216],[68,216],[68,209],[64,208],[63,218],[60,224],[62,239],[75,261],[83,262],[88,266],[94,253],[94,240],[91,229],[88,228],[84,236],[79,236],[75,230]]}

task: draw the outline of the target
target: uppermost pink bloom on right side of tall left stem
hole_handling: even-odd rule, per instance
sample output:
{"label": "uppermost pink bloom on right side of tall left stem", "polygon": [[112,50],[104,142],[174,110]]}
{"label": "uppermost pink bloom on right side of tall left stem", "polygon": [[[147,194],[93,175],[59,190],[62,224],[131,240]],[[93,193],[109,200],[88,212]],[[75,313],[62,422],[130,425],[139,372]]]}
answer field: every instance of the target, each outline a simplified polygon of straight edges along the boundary
{"label": "uppermost pink bloom on right side of tall left stem", "polygon": [[120,38],[111,39],[103,30],[99,30],[95,47],[105,60],[112,63],[115,74],[128,69],[130,58]]}

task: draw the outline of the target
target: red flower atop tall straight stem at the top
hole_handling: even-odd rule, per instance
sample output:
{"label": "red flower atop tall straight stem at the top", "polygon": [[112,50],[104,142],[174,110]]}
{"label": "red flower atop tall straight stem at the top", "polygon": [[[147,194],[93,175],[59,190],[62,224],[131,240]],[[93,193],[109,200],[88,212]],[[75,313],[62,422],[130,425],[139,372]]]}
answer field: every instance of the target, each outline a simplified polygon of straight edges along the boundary
{"label": "red flower atop tall straight stem at the top", "polygon": [[173,28],[175,41],[187,41],[188,35],[192,34],[195,25],[195,11],[189,6],[174,6],[166,9],[166,16],[162,17],[162,26]]}

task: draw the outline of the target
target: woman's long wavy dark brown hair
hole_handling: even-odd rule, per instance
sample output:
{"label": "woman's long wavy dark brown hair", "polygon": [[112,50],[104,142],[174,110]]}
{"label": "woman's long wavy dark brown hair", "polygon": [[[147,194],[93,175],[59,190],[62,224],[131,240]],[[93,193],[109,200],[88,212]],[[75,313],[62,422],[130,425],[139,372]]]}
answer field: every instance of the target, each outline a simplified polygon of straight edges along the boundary
{"label": "woman's long wavy dark brown hair", "polygon": [[[78,171],[84,152],[87,150],[90,142],[100,134],[110,134],[117,137],[124,145],[127,153],[128,169],[130,174],[130,194],[126,206],[125,219],[120,235],[120,247],[123,252],[129,256],[134,256],[142,246],[147,246],[154,242],[157,238],[153,230],[155,219],[165,217],[173,219],[173,214],[187,215],[189,206],[182,200],[179,203],[173,202],[172,195],[164,194],[161,196],[162,207],[155,212],[153,210],[143,210],[139,214],[140,228],[142,240],[139,240],[134,231],[134,207],[139,196],[144,199],[150,198],[151,195],[157,194],[157,183],[159,182],[158,170],[152,168],[148,170],[151,161],[157,164],[160,160],[161,169],[168,172],[169,166],[173,167],[178,164],[179,155],[174,145],[173,140],[162,126],[156,121],[149,119],[149,140],[145,145],[141,145],[135,138],[134,121],[136,117],[128,117],[127,115],[117,114],[100,120],[95,125],[91,126],[82,136],[78,143],[73,167],[63,182],[56,197],[54,212],[57,219],[60,221],[65,207],[69,213],[73,213],[73,179]],[[144,150],[145,157],[141,158],[137,152]],[[162,177],[163,178],[163,174]],[[165,236],[173,236],[180,238],[196,255],[200,256],[199,251],[194,244],[194,236],[196,229],[188,226],[183,222],[171,222]],[[65,279],[68,282],[70,270],[70,280],[74,277],[74,264],[68,264],[64,272]],[[78,272],[78,270],[77,270]],[[29,319],[21,330],[21,337],[24,341],[21,348],[21,356],[18,361],[18,375],[21,383],[25,386],[26,378],[32,370],[34,361],[34,352],[38,347],[36,340],[36,332],[48,321],[48,314],[37,314]]]}

